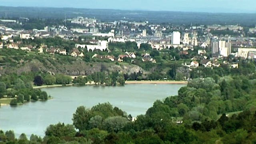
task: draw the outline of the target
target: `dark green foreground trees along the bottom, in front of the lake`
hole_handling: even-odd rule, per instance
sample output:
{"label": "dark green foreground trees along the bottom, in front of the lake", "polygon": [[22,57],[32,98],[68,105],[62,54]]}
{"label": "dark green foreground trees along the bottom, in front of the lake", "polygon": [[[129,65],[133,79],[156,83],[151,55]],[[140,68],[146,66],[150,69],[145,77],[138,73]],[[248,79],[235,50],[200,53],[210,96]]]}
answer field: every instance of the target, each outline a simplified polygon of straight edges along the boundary
{"label": "dark green foreground trees along the bottom, in front of the lake", "polygon": [[[109,104],[91,109],[84,106],[73,114],[73,124],[52,124],[44,138],[13,131],[0,131],[2,144],[253,144],[256,141],[256,112],[245,110],[218,120],[179,125],[172,119],[140,115],[135,122],[125,112]],[[76,131],[77,128],[79,131]]]}

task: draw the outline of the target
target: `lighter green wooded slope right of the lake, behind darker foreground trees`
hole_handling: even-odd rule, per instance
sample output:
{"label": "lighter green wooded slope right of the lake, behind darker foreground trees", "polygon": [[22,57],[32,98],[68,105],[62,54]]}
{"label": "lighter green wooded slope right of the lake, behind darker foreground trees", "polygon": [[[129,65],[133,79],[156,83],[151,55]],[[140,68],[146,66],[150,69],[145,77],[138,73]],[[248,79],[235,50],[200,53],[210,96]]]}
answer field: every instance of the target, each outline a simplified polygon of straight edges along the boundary
{"label": "lighter green wooded slope right of the lake, behind darker foreground trees", "polygon": [[183,122],[217,120],[218,115],[241,110],[255,110],[255,81],[243,76],[196,78],[180,88],[178,96],[156,101],[146,112],[148,116],[171,119],[183,117]]}

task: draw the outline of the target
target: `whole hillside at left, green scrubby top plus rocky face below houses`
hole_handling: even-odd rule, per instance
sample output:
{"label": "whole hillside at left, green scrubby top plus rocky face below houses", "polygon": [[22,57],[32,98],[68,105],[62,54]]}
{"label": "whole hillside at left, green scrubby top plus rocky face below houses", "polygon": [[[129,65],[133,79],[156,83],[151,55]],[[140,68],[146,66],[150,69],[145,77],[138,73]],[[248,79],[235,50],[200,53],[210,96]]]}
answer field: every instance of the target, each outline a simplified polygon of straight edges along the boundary
{"label": "whole hillside at left, green scrubby top plus rocky face below houses", "polygon": [[44,54],[34,54],[25,56],[1,56],[0,74],[10,74],[22,72],[50,72],[60,73],[70,76],[87,75],[100,71],[120,71],[123,73],[143,72],[141,67],[114,62],[84,62],[82,58],[73,58],[70,56],[54,56]]}

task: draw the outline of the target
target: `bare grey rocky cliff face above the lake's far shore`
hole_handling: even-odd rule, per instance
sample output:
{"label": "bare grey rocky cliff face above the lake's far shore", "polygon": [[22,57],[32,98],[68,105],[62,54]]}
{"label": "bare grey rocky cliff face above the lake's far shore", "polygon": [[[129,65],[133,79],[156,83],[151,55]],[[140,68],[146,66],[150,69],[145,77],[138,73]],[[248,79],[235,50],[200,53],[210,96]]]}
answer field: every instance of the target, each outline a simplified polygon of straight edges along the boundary
{"label": "bare grey rocky cliff face above the lake's far shore", "polygon": [[53,74],[61,73],[66,74],[70,76],[78,76],[78,75],[87,75],[92,74],[94,72],[100,72],[100,71],[119,71],[123,73],[134,73],[141,71],[143,73],[146,73],[141,67],[132,65],[132,64],[126,64],[126,63],[120,63],[119,65],[106,62],[92,62],[87,63],[82,60],[76,60],[70,63],[62,63],[58,62],[57,60],[44,60],[44,62],[40,62],[37,59],[34,59],[32,61],[26,61],[22,62],[21,64],[18,64],[15,67],[9,67],[4,66],[2,69],[0,69],[0,74],[8,74],[8,73],[17,73],[20,74],[22,72],[50,72]]}

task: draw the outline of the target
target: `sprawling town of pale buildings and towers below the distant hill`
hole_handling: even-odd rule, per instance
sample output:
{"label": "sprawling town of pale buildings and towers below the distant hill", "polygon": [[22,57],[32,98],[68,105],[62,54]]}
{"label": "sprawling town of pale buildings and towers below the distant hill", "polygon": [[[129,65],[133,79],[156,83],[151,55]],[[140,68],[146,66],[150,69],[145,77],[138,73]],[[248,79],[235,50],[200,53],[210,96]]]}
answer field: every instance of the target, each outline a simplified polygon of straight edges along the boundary
{"label": "sprawling town of pale buildings and towers below the distant hill", "polygon": [[[9,22],[4,20],[4,22]],[[75,44],[74,48],[84,48],[87,51],[108,49],[109,42],[136,42],[138,48],[143,43],[150,44],[153,49],[179,48],[182,52],[197,47],[198,54],[204,55],[210,49],[213,57],[228,57],[234,55],[242,58],[254,58],[256,46],[255,37],[247,37],[244,28],[239,25],[210,25],[210,26],[175,26],[167,24],[150,24],[145,22],[128,22],[125,20],[114,22],[100,22],[96,18],[77,17],[69,20],[72,24],[79,24],[80,28],[66,26],[46,26],[42,30],[13,30],[0,26],[0,48],[30,50],[31,46],[24,46],[14,42],[14,37],[20,39],[48,38],[58,36],[68,40],[78,40],[80,36],[104,37],[105,40],[92,40],[90,44]],[[106,31],[108,30],[108,31]],[[230,30],[238,36],[216,35],[212,30]],[[248,33],[256,34],[256,27],[250,28]],[[40,52],[42,50],[39,50]],[[50,53],[56,51],[50,48]],[[72,52],[72,56],[82,56]],[[76,54],[75,54],[76,53]],[[62,52],[64,54],[64,52]],[[153,60],[152,60],[153,61]]]}

